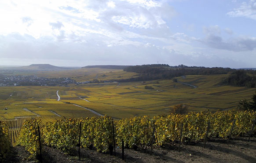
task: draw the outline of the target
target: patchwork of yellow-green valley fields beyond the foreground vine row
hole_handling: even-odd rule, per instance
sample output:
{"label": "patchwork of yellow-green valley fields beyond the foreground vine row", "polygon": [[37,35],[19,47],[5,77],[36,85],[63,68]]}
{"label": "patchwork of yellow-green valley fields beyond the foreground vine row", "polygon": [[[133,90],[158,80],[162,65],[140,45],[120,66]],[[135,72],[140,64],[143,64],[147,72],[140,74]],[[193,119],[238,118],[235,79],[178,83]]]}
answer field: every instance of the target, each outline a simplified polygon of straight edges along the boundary
{"label": "patchwork of yellow-green valley fields beyond the foreground vine row", "polygon": [[[37,72],[37,75],[72,77],[79,82],[95,78],[114,80],[136,76],[135,73],[112,69]],[[178,82],[109,82],[68,87],[0,87],[0,120],[7,122],[15,142],[15,135],[27,118],[40,118],[45,123],[64,117],[97,116],[92,110],[99,113],[98,116],[106,114],[115,119],[144,115],[153,117],[168,114],[177,104],[188,105],[189,111],[215,112],[218,109],[235,109],[238,101],[250,99],[256,91],[253,88],[219,86],[219,82],[225,77],[227,75],[181,76],[177,78]],[[154,89],[145,89],[145,86]]]}

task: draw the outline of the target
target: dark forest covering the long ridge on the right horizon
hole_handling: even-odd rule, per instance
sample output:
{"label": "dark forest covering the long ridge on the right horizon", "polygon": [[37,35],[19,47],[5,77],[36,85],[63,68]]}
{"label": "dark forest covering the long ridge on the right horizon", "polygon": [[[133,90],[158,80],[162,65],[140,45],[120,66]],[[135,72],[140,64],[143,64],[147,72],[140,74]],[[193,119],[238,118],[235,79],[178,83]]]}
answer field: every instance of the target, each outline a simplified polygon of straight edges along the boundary
{"label": "dark forest covering the long ridge on the right horizon", "polygon": [[118,80],[118,82],[131,82],[143,80],[158,80],[158,79],[172,79],[184,75],[217,75],[230,74],[220,84],[231,85],[236,87],[256,87],[256,71],[243,69],[230,69],[222,67],[196,67],[196,66],[169,66],[165,64],[154,65],[135,65],[124,69],[127,72],[139,73],[138,76],[133,76],[129,79]]}

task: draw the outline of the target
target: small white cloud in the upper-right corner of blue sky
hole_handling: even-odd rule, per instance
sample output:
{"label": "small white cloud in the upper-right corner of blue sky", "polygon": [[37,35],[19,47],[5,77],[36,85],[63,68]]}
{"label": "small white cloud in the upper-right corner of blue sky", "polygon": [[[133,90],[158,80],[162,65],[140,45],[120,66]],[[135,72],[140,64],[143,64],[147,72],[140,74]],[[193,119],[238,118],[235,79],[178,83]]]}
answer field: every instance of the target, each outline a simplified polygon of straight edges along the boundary
{"label": "small white cloud in the upper-right corner of blue sky", "polygon": [[239,8],[227,13],[231,17],[245,17],[256,20],[256,0],[243,2]]}

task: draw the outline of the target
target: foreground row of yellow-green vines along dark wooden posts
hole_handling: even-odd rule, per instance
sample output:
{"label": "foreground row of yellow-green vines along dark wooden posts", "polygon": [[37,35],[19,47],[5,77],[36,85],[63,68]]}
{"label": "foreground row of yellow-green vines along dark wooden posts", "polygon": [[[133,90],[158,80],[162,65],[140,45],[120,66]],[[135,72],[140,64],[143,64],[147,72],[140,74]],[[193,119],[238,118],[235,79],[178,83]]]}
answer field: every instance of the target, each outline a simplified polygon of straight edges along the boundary
{"label": "foreground row of yellow-green vines along dark wooden posts", "polygon": [[[41,143],[55,147],[67,153],[77,150],[77,145],[97,151],[113,150],[113,141],[121,147],[122,140],[127,148],[147,148],[151,145],[165,145],[173,141],[202,141],[208,138],[230,138],[247,134],[252,130],[255,112],[191,112],[188,115],[171,114],[169,116],[133,117],[114,121],[109,116],[85,119],[57,120],[43,125],[40,120],[26,120],[20,131],[18,145],[38,156],[40,153],[38,127]],[[79,145],[79,124],[81,123],[81,143]],[[209,129],[208,124],[210,124]],[[253,130],[255,133],[255,129]],[[152,137],[153,135],[153,137]]]}

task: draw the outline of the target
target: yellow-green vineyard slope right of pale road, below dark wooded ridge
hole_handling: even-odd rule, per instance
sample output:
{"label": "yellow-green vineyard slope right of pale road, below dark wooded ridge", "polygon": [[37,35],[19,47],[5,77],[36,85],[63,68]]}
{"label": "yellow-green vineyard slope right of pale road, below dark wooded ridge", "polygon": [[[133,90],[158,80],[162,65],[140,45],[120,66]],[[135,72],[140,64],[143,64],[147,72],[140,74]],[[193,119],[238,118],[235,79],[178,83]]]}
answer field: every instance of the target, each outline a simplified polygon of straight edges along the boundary
{"label": "yellow-green vineyard slope right of pale road, below dark wooded ridge", "polygon": [[[77,93],[65,91],[64,101],[77,103],[116,118],[135,115],[168,114],[170,108],[177,104],[189,105],[191,111],[216,111],[234,109],[243,98],[251,98],[255,89],[244,87],[218,86],[225,76],[186,76],[178,81],[195,84],[189,87],[173,80],[157,80],[130,83],[99,83],[80,85],[80,98]],[[153,90],[145,86],[154,87]],[[70,98],[73,97],[75,99]],[[65,98],[69,98],[66,99]]]}

